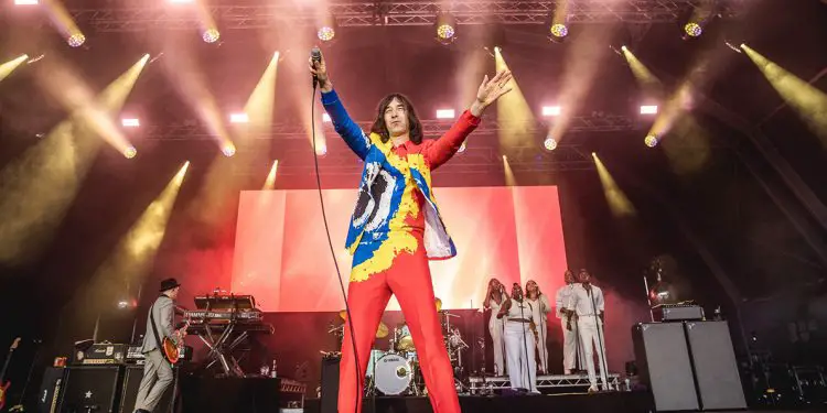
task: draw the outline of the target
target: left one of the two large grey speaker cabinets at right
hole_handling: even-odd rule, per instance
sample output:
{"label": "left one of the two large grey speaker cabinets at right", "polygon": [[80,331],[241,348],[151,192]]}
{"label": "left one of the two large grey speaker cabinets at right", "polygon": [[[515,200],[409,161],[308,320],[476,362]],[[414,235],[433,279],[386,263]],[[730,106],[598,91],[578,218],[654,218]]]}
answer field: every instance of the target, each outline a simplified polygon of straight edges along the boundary
{"label": "left one of the two large grey speaker cabinets at right", "polygon": [[642,381],[659,412],[698,410],[692,367],[681,323],[641,323],[632,327]]}

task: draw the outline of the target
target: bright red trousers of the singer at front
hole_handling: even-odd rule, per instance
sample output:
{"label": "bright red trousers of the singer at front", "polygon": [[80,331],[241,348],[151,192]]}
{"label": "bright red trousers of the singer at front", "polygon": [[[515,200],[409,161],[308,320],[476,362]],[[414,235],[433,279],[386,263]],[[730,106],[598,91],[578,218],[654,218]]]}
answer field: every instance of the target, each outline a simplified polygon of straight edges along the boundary
{"label": "bright red trousers of the singer at front", "polygon": [[[431,271],[421,239],[415,253],[400,253],[388,270],[373,274],[366,281],[351,282],[347,289],[347,304],[353,317],[359,359],[358,371],[363,380],[356,382],[351,323],[345,323],[339,376],[339,413],[362,412],[364,374],[376,339],[376,329],[390,294],[396,294],[410,328],[433,412],[459,413],[460,402],[454,388],[453,370],[442,340]],[[358,410],[354,409],[354,403],[358,403]]]}

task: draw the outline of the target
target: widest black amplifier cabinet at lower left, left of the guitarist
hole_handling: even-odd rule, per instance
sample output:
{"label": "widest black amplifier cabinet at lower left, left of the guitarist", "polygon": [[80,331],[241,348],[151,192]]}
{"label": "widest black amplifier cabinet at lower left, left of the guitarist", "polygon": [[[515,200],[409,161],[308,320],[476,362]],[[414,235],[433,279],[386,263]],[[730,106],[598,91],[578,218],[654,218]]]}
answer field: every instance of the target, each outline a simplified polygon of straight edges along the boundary
{"label": "widest black amplifier cabinet at lower left, left of the guitarist", "polygon": [[61,413],[115,413],[122,366],[71,366],[64,376]]}

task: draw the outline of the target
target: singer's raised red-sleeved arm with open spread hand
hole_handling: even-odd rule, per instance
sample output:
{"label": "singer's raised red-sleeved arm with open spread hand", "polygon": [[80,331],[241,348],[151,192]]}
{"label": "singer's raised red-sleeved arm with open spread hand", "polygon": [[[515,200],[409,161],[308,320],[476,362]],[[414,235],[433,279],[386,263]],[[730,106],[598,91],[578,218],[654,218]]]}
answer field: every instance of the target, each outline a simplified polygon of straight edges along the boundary
{"label": "singer's raised red-sleeved arm with open spread hand", "polygon": [[436,141],[427,141],[422,154],[431,170],[436,170],[448,162],[460,150],[462,142],[480,124],[480,117],[485,108],[511,91],[512,87],[507,86],[511,79],[512,73],[507,70],[497,73],[491,80],[485,75],[476,91],[476,99],[468,110],[462,112],[457,123]]}

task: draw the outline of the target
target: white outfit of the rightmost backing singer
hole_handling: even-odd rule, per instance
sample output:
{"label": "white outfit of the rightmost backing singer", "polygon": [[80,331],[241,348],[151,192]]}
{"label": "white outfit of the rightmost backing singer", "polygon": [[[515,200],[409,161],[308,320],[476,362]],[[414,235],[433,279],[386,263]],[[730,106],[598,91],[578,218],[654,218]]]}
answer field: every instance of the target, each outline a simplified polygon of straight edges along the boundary
{"label": "white outfit of the rightmost backing singer", "polygon": [[580,333],[580,343],[583,344],[586,356],[586,370],[589,372],[589,382],[591,389],[597,390],[598,378],[594,372],[594,348],[598,352],[600,362],[600,379],[603,382],[603,389],[609,390],[606,380],[606,361],[605,361],[605,335],[603,332],[603,322],[599,315],[605,309],[603,302],[603,291],[592,285],[591,292],[588,292],[582,284],[577,284],[572,290],[571,301],[568,309],[573,309],[578,315],[578,332]]}

